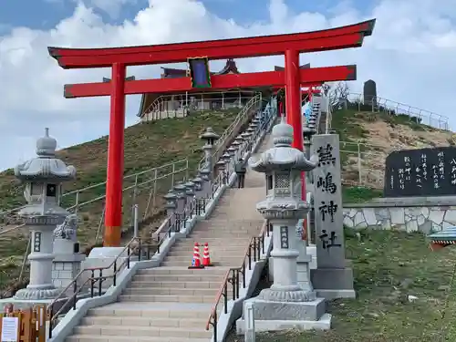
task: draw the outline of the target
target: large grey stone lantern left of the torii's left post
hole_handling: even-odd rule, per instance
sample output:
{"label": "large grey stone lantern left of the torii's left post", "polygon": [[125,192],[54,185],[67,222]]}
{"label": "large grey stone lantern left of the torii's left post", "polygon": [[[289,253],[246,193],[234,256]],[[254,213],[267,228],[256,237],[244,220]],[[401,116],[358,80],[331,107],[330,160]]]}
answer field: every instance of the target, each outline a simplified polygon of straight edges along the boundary
{"label": "large grey stone lantern left of the torii's left post", "polygon": [[53,240],[57,224],[62,224],[69,214],[61,208],[62,182],[76,177],[76,169],[56,158],[57,140],[45,136],[36,141],[37,157],[17,165],[16,178],[26,184],[24,197],[26,206],[18,214],[24,219],[31,233],[30,283],[17,291],[15,299],[44,300],[59,295],[53,285],[52,262],[54,260]]}

